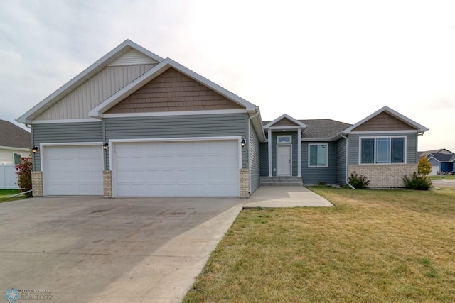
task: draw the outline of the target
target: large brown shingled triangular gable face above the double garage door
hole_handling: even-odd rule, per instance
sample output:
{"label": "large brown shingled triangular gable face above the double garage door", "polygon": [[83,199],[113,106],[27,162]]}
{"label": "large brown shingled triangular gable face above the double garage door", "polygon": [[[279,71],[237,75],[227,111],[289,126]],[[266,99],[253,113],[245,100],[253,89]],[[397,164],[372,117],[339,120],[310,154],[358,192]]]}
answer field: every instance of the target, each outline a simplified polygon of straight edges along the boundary
{"label": "large brown shingled triangular gable face above the double garage door", "polygon": [[105,114],[242,108],[240,104],[169,68]]}

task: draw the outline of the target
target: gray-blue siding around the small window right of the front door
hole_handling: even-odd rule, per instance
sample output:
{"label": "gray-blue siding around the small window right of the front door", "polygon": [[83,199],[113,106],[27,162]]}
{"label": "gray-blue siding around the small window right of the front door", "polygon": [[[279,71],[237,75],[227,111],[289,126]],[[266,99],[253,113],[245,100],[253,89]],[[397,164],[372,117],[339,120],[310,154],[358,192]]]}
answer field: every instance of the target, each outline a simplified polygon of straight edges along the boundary
{"label": "gray-blue siding around the small window right of the front door", "polygon": [[[328,144],[328,167],[308,167],[308,145]],[[336,184],[336,142],[302,142],[301,147],[301,172],[304,184],[317,184],[326,182]]]}

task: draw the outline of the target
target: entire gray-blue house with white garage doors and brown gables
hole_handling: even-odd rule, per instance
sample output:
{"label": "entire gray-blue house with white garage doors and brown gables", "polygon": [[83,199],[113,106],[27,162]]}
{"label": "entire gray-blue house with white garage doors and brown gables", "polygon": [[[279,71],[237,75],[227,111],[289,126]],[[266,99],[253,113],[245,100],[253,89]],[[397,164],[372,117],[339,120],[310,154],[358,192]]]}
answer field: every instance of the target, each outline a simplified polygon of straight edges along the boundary
{"label": "entire gray-blue house with white garage doors and brown gables", "polygon": [[31,126],[33,195],[249,197],[261,179],[402,186],[427,128],[383,107],[350,125],[262,121],[259,107],[124,41],[17,119]]}

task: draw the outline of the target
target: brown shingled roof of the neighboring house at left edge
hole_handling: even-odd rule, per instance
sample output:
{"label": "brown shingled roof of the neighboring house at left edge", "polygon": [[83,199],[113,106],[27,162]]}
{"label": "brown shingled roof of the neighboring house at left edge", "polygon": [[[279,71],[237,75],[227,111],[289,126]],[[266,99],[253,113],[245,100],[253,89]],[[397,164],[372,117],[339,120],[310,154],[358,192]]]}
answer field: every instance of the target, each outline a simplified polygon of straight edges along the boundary
{"label": "brown shingled roof of the neighboring house at left edge", "polygon": [[31,148],[31,133],[13,123],[0,120],[0,146]]}

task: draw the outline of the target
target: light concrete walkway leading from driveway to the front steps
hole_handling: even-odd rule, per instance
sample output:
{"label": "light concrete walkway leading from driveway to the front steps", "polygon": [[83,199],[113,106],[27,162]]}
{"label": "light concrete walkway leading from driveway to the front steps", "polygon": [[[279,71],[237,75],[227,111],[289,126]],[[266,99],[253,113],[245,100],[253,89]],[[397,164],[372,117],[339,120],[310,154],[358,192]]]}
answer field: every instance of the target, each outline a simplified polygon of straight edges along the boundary
{"label": "light concrete walkway leading from driveway to the front steps", "polygon": [[287,186],[263,186],[254,192],[250,199],[243,205],[247,207],[299,207],[299,206],[333,206],[319,194],[311,192],[305,187]]}

